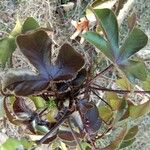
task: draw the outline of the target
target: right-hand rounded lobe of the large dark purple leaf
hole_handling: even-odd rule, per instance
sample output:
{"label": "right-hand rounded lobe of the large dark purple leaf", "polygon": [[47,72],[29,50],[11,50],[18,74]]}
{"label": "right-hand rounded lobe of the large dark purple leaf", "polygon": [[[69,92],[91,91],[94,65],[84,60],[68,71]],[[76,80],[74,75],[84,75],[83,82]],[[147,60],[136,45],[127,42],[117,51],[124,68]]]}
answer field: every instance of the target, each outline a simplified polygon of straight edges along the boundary
{"label": "right-hand rounded lobe of the large dark purple leaf", "polygon": [[53,77],[54,81],[70,80],[76,77],[84,63],[85,61],[81,54],[75,51],[69,44],[64,44],[60,48],[55,65],[49,70],[49,74]]}

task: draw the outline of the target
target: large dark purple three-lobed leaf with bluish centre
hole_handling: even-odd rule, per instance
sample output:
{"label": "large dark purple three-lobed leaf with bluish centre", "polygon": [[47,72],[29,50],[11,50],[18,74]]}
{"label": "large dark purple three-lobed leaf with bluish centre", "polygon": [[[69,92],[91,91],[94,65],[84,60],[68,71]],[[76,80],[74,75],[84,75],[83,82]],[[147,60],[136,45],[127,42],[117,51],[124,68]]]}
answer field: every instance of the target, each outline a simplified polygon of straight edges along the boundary
{"label": "large dark purple three-lobed leaf with bluish centre", "polygon": [[[51,39],[44,30],[19,35],[17,44],[21,52],[37,69],[31,71],[8,72],[3,80],[3,90],[13,91],[18,96],[37,94],[47,89],[54,81],[60,91],[65,91],[66,81],[74,79],[84,66],[84,58],[69,44],[64,44],[54,63],[51,60]],[[79,63],[80,62],[80,63]]]}

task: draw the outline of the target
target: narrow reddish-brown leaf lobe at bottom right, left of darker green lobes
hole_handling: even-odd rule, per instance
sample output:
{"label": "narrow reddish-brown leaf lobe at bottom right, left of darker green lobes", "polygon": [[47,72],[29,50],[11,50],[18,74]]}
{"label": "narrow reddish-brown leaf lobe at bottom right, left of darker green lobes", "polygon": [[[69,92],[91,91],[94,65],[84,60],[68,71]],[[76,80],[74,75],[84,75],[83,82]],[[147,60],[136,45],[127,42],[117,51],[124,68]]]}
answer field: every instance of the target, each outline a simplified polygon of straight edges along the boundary
{"label": "narrow reddish-brown leaf lobe at bottom right, left of darker green lobes", "polygon": [[121,142],[123,141],[126,132],[127,132],[127,127],[124,127],[123,130],[119,133],[119,135],[115,138],[115,140],[110,145],[102,148],[101,150],[116,150],[121,144]]}

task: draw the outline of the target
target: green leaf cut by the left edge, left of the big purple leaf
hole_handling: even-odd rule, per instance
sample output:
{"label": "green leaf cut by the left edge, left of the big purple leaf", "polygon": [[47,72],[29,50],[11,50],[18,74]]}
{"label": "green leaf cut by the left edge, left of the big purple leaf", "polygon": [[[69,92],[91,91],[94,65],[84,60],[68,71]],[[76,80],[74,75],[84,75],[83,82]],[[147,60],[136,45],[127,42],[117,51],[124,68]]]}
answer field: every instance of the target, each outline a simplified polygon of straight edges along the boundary
{"label": "green leaf cut by the left edge, left of the big purple leaf", "polygon": [[16,43],[14,37],[5,37],[0,39],[0,64],[4,68],[8,59],[16,49]]}

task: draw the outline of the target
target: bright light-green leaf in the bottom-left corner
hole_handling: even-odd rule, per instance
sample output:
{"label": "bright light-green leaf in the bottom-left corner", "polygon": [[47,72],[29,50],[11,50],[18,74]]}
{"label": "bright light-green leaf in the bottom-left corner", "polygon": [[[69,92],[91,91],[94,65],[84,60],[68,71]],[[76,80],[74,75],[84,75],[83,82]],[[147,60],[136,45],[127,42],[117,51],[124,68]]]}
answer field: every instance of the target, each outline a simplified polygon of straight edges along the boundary
{"label": "bright light-green leaf in the bottom-left corner", "polygon": [[32,143],[25,139],[17,140],[14,138],[8,138],[4,144],[0,146],[0,150],[16,150],[16,149],[30,149]]}

